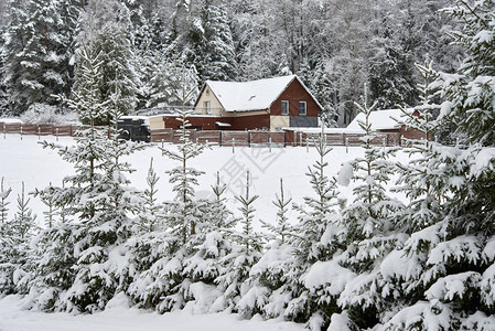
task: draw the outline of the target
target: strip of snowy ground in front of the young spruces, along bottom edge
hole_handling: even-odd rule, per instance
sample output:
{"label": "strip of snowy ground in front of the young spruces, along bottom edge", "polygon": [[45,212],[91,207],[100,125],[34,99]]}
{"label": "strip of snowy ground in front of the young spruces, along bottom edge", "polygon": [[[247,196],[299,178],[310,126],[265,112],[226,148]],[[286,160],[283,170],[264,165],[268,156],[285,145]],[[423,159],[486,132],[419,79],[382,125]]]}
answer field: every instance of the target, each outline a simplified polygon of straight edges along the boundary
{"label": "strip of snowy ground in front of the young spruces, along bottom edge", "polygon": [[1,331],[299,331],[303,327],[280,320],[263,321],[259,317],[244,320],[230,313],[195,316],[176,311],[158,314],[127,308],[122,302],[94,314],[47,314],[22,310],[22,300],[17,296],[0,300]]}

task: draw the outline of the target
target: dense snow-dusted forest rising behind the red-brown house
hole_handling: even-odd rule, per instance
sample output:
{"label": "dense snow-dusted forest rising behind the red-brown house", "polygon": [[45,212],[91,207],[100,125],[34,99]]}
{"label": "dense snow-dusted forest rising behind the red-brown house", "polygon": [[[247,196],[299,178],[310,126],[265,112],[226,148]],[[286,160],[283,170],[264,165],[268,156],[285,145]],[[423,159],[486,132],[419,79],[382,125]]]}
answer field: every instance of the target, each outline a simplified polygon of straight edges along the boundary
{"label": "dense snow-dusted forest rising behind the red-brown house", "polygon": [[[452,73],[448,0],[1,0],[0,114],[60,113],[84,86],[82,52],[99,54],[101,99],[166,110],[206,79],[298,74],[340,125],[366,85],[381,109],[416,106],[417,63]],[[61,97],[62,96],[62,97]]]}

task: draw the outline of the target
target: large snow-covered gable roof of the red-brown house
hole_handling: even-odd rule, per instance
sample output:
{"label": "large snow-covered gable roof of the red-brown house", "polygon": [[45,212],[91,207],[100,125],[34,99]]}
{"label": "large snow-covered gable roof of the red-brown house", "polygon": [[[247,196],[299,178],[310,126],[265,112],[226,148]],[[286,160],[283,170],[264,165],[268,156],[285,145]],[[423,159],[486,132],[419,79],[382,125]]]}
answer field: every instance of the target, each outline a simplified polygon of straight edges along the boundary
{"label": "large snow-covered gable roof of the red-brown house", "polygon": [[[294,79],[301,83],[304,89],[311,95],[309,89],[295,75],[250,82],[206,81],[202,93],[208,86],[226,111],[262,110],[270,108],[271,104],[278,99]],[[320,108],[323,108],[313,95],[311,97]]]}

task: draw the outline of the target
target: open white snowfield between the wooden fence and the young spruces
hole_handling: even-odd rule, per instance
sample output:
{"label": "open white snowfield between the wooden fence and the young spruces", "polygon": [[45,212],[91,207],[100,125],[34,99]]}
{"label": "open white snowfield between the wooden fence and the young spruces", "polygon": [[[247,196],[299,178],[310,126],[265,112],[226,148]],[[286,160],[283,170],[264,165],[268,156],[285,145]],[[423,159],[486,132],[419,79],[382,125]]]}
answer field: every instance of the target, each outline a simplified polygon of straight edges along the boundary
{"label": "open white snowfield between the wooden fence and the young spruces", "polygon": [[[55,137],[42,137],[47,141],[55,141]],[[72,173],[72,164],[68,164],[54,150],[43,149],[36,136],[7,135],[6,139],[0,137],[0,177],[4,178],[4,185],[12,189],[9,196],[10,210],[14,209],[17,194],[21,190],[22,182],[25,191],[32,192],[34,189],[43,189],[50,183],[61,185],[62,179]],[[58,143],[71,145],[72,138],[60,138]],[[160,145],[161,146],[161,145]],[[165,148],[174,149],[173,145],[164,145]],[[362,156],[361,148],[349,148],[348,153],[344,147],[334,147],[327,154],[327,175],[334,175],[341,169],[341,164],[356,157]],[[146,175],[153,158],[153,167],[160,175],[159,197],[163,201],[174,197],[172,185],[169,183],[166,170],[179,164],[161,154],[159,146],[150,146],[144,151],[134,153],[129,160],[136,172],[130,174],[132,185],[144,189]],[[236,147],[234,152],[227,147],[212,147],[203,154],[191,161],[191,166],[205,172],[200,178],[200,185],[196,188],[196,196],[207,197],[212,195],[211,185],[216,181],[216,172],[219,171],[220,179],[227,184],[226,197],[230,210],[239,207],[238,202],[233,199],[245,190],[246,171],[251,173],[251,192],[259,195],[255,203],[257,209],[257,220],[261,218],[270,222],[276,216],[276,206],[272,204],[275,195],[280,192],[280,178],[283,179],[283,186],[293,202],[301,203],[303,196],[312,194],[311,184],[305,173],[308,167],[319,158],[314,148],[309,150],[305,147],[273,148],[271,152],[268,148]],[[349,196],[352,189],[341,188],[345,196]],[[37,199],[31,199],[31,207],[37,214],[41,222],[44,205]],[[295,212],[290,212],[289,217],[294,220]],[[260,229],[260,223],[255,222],[255,226]]]}

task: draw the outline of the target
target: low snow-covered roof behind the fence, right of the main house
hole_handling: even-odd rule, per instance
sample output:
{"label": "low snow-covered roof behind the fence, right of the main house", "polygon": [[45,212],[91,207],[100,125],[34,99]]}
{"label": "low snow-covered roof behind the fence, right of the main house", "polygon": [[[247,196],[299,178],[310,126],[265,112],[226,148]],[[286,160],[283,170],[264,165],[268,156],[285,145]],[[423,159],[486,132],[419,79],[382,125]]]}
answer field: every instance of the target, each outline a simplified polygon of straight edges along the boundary
{"label": "low snow-covered roof behind the fence, right of the main house", "polygon": [[[407,109],[407,111],[413,113],[415,109]],[[373,130],[394,130],[399,129],[401,125],[397,120],[405,120],[405,114],[400,109],[387,109],[372,111],[369,115],[369,122]],[[364,122],[366,117],[364,113],[359,113],[353,121],[347,126],[348,130],[363,131],[359,126],[359,121]]]}

